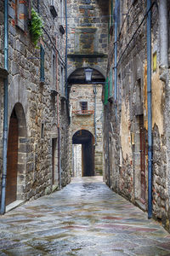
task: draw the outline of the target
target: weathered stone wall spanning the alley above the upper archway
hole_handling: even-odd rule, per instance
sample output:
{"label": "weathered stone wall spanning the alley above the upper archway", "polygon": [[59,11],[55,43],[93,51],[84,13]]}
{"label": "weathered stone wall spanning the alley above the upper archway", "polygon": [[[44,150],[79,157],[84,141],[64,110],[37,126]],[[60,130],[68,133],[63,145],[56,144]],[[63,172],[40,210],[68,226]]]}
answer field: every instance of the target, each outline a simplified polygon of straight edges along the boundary
{"label": "weathered stone wall spanning the alley above the upper archway", "polygon": [[80,67],[92,67],[105,76],[108,26],[107,3],[101,0],[69,0],[67,3],[68,77]]}

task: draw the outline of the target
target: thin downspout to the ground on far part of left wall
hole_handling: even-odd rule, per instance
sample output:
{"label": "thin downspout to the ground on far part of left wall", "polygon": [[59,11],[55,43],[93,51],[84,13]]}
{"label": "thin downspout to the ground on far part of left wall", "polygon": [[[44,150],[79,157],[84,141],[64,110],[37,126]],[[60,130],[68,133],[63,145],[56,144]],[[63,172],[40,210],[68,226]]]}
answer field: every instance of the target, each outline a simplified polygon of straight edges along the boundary
{"label": "thin downspout to the ground on far part of left wall", "polygon": [[[56,37],[57,49],[57,37]],[[59,127],[59,81],[58,81],[58,51],[56,50],[56,90],[57,90],[57,131],[58,131],[58,174],[59,174],[59,188],[61,187],[61,173],[60,173],[60,127]]]}

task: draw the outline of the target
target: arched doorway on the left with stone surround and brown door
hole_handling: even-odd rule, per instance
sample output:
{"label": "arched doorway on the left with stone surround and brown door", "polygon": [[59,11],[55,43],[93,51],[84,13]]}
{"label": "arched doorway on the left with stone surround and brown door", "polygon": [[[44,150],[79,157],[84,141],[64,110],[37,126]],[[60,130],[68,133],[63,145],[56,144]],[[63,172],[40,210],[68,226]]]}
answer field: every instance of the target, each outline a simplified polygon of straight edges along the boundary
{"label": "arched doorway on the left with stone surround and brown door", "polygon": [[6,206],[24,200],[27,152],[26,117],[20,103],[14,105],[8,126]]}

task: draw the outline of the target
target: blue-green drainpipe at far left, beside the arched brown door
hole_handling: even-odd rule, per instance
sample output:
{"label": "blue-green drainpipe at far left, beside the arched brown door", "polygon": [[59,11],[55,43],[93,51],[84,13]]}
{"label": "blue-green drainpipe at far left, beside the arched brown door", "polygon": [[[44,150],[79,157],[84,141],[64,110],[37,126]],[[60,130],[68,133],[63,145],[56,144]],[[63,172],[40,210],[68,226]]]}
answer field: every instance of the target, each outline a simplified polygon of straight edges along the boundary
{"label": "blue-green drainpipe at far left, beside the arched brown door", "polygon": [[[4,68],[8,71],[8,0],[4,1]],[[5,213],[5,194],[7,179],[7,143],[8,143],[8,78],[4,79],[3,113],[3,180],[1,191],[1,214]]]}

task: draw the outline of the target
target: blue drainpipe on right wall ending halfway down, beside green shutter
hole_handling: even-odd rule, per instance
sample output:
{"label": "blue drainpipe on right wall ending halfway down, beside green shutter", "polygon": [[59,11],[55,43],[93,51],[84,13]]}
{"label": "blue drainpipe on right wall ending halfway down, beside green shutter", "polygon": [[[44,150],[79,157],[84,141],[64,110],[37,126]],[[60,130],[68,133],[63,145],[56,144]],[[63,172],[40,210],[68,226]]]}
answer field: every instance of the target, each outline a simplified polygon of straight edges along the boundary
{"label": "blue drainpipe on right wall ending halfway down, beside green shutter", "polygon": [[[115,73],[114,73],[115,103],[117,100],[117,7],[118,7],[118,0],[116,0],[116,6],[115,6]],[[117,107],[116,107],[116,117],[117,117]]]}

